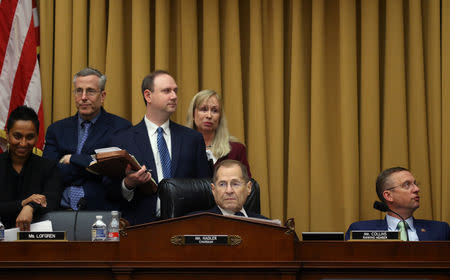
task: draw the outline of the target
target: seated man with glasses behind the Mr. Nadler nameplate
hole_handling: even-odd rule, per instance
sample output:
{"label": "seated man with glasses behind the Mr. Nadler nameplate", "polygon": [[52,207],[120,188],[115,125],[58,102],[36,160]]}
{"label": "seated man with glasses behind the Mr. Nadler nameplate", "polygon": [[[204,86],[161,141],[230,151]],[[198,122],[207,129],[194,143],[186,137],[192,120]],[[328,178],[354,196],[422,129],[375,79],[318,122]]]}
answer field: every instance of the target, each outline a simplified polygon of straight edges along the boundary
{"label": "seated man with glasses behind the Mr. Nadler nameplate", "polygon": [[219,162],[214,168],[211,189],[216,206],[204,212],[268,219],[243,207],[252,190],[252,182],[247,168],[240,161],[227,159]]}

